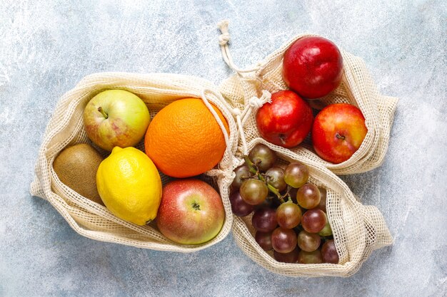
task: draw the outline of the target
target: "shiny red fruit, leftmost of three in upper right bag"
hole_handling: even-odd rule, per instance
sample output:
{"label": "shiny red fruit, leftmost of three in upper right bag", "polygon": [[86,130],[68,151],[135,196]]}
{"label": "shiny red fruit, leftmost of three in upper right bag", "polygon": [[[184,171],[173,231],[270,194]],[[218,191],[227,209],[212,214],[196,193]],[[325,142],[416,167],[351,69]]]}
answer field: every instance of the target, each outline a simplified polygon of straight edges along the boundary
{"label": "shiny red fruit, leftmost of three in upper right bag", "polygon": [[311,131],[312,109],[296,93],[281,90],[271,94],[271,103],[256,113],[256,125],[261,136],[281,147],[299,145]]}

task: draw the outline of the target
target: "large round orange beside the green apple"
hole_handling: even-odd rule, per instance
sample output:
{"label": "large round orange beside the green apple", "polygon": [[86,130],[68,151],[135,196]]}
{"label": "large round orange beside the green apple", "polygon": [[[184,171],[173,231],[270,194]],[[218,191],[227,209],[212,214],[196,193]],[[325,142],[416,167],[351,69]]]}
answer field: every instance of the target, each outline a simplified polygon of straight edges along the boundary
{"label": "large round orange beside the green apple", "polygon": [[[228,132],[224,115],[212,105]],[[146,154],[171,177],[192,177],[216,166],[226,149],[224,133],[204,102],[186,98],[156,114],[144,137]]]}

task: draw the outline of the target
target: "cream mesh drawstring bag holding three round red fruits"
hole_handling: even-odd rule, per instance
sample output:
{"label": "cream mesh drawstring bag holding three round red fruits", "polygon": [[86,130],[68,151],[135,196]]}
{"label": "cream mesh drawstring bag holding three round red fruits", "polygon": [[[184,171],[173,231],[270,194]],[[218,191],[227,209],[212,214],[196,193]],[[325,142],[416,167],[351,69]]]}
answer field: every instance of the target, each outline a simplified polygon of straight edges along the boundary
{"label": "cream mesh drawstring bag holding three round red fruits", "polygon": [[[270,93],[279,90],[287,90],[281,69],[283,54],[293,42],[309,34],[298,35],[286,42],[281,48],[268,55],[261,63],[251,69],[240,69],[234,65],[228,51],[228,21],[219,24],[221,36],[222,56],[224,60],[236,71],[236,74],[221,83],[221,93],[233,105],[241,110],[251,107],[260,107],[262,102],[252,100],[259,97],[263,90]],[[315,36],[315,35],[313,35]],[[341,85],[333,92],[320,100],[310,101],[313,108],[321,109],[331,103],[350,103],[356,105],[366,118],[368,133],[363,140],[361,147],[353,156],[340,164],[326,162],[318,157],[313,151],[309,137],[292,149],[298,155],[302,155],[313,164],[323,164],[336,174],[354,174],[366,172],[380,166],[384,160],[388,141],[393,123],[394,112],[396,110],[397,98],[383,96],[378,93],[378,89],[368,73],[365,63],[351,53],[343,51],[343,78]],[[243,132],[249,142],[256,137],[260,137],[256,128],[255,113],[248,115],[244,122]]]}

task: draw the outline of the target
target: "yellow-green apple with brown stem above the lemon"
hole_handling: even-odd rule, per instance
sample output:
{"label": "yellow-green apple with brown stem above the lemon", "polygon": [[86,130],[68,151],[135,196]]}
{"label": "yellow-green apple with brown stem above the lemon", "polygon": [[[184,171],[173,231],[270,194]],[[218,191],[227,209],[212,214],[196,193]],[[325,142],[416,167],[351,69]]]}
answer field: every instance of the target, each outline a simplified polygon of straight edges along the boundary
{"label": "yellow-green apple with brown stem above the lemon", "polygon": [[138,144],[150,120],[143,100],[126,90],[105,90],[91,98],[84,110],[87,135],[109,151]]}

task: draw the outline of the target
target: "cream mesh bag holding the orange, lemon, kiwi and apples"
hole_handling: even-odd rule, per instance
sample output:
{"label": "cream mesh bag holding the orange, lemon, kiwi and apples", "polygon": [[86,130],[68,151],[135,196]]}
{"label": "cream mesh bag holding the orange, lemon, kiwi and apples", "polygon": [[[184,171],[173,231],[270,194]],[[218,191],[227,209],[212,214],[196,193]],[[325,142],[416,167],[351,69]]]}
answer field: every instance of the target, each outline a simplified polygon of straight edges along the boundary
{"label": "cream mesh bag holding the orange, lemon, kiwi and apples", "polygon": [[[146,226],[138,226],[115,217],[106,207],[91,202],[61,183],[52,167],[56,155],[69,145],[90,142],[82,120],[86,104],[101,90],[124,89],[139,95],[144,100],[151,118],[174,100],[180,98],[202,98],[216,105],[228,122],[230,130],[226,136],[226,152],[214,170],[203,174],[206,182],[219,189],[224,202],[226,219],[220,233],[211,241],[200,245],[181,245],[166,239],[152,222]],[[54,111],[49,125],[46,127],[44,140],[39,151],[36,164],[36,177],[31,184],[31,194],[48,200],[66,219],[71,228],[79,234],[99,241],[109,241],[140,248],[161,251],[190,252],[205,249],[221,241],[231,230],[233,217],[228,200],[229,184],[233,179],[233,155],[237,148],[237,131],[229,105],[221,97],[214,95],[218,90],[207,80],[186,75],[175,74],[134,74],[134,73],[97,73],[86,76],[76,87],[66,93]],[[212,110],[212,108],[210,109]],[[214,110],[212,110],[214,112]],[[215,115],[218,122],[219,116]],[[141,142],[139,149],[143,149]],[[101,151],[101,150],[99,150]],[[102,151],[106,155],[105,151]],[[229,174],[228,174],[229,172]],[[165,184],[169,177],[161,174]]]}

